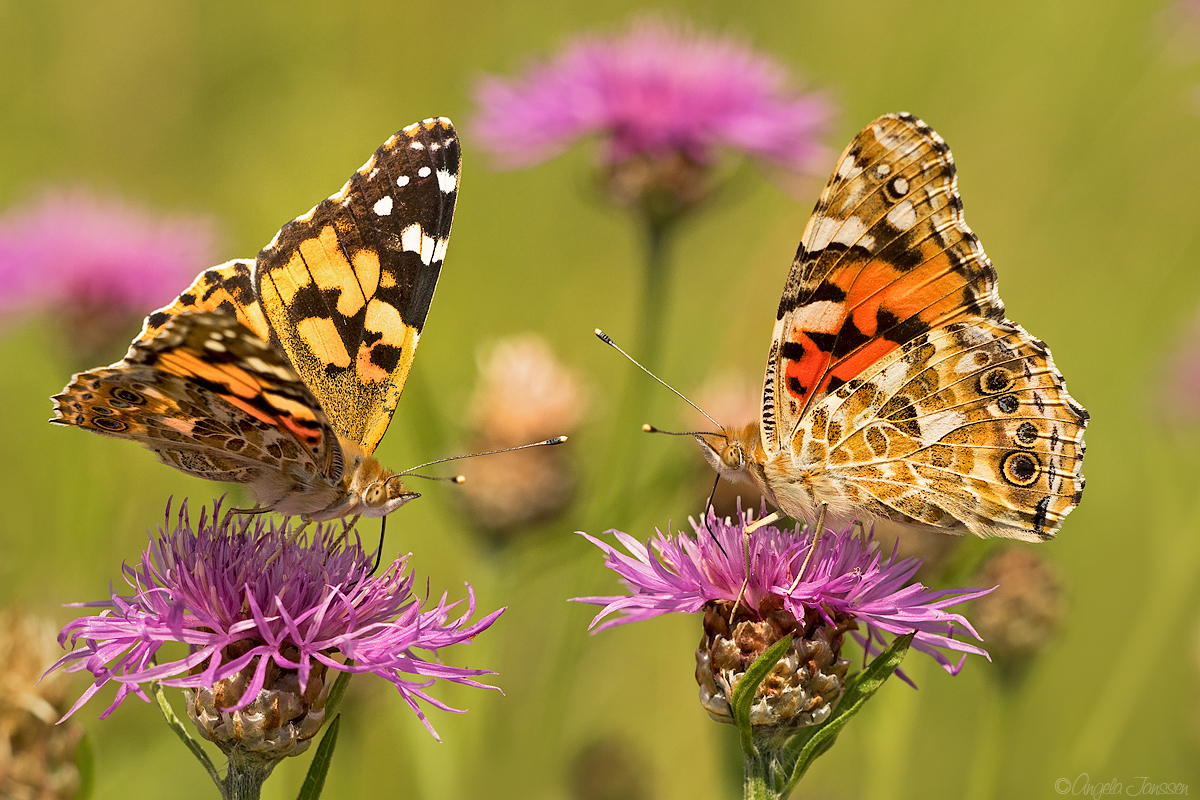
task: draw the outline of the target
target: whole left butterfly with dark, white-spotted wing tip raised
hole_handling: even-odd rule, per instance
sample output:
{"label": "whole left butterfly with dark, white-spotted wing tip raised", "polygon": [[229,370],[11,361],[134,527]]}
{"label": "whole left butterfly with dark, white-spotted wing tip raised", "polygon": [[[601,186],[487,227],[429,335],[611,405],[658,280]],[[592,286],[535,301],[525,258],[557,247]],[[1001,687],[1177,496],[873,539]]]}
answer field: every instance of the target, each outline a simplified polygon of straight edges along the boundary
{"label": "whole left butterfly with dark, white-spotted wing tip raised", "polygon": [[382,517],[419,497],[373,456],[445,258],[461,151],[446,119],[389,138],[253,260],[202,272],[50,422],[246,483],[260,510]]}

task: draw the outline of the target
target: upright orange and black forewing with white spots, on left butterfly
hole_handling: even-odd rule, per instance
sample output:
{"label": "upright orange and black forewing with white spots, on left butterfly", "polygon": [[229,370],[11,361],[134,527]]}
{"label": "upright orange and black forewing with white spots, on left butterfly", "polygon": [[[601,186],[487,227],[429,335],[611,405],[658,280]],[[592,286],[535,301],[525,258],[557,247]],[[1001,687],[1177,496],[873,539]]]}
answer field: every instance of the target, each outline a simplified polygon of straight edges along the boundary
{"label": "upright orange and black forewing with white spots, on left butterfly", "polygon": [[410,125],[286,224],[254,265],[276,341],[338,434],[367,453],[391,421],[425,326],[458,168],[449,120]]}

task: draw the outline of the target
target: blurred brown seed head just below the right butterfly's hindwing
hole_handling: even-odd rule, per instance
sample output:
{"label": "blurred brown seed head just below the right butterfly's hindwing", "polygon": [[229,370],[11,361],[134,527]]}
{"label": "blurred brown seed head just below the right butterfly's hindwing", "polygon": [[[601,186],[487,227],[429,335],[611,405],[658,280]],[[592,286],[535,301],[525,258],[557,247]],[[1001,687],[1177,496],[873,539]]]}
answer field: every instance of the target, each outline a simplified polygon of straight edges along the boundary
{"label": "blurred brown seed head just below the right butterfly's hindwing", "polygon": [[979,585],[997,589],[974,601],[972,620],[1002,666],[1022,666],[1046,646],[1063,615],[1057,571],[1026,548],[1014,547],[984,564]]}

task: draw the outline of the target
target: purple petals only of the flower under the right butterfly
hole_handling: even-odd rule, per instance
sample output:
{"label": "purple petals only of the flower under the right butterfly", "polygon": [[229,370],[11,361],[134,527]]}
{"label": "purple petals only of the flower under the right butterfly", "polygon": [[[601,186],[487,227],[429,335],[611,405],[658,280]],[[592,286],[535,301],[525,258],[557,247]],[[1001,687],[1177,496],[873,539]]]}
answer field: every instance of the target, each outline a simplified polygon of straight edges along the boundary
{"label": "purple petals only of the flower under the right butterfly", "polygon": [[[732,603],[746,578],[743,535],[751,518],[748,512],[736,521],[718,519],[709,511],[704,527],[692,521],[694,536],[656,531],[646,545],[629,534],[610,531],[628,555],[581,534],[605,552],[605,566],[620,576],[630,594],[575,600],[604,606],[592,620],[598,631],[672,612],[697,612],[709,603]],[[962,668],[966,654],[986,657],[983,648],[954,638],[968,633],[978,640],[979,636],[962,614],[949,609],[991,589],[935,591],[912,583],[919,559],[892,560],[870,537],[864,540],[851,531],[829,529],[797,581],[797,571],[812,546],[810,529],[785,531],[768,525],[755,530],[743,604],[751,613],[782,608],[797,620],[812,619],[815,613],[830,626],[848,618],[859,625],[853,637],[865,655],[881,651],[888,637],[916,631],[912,648],[932,656],[950,674]],[[618,612],[620,616],[602,621]],[[962,656],[952,663],[944,650]]]}

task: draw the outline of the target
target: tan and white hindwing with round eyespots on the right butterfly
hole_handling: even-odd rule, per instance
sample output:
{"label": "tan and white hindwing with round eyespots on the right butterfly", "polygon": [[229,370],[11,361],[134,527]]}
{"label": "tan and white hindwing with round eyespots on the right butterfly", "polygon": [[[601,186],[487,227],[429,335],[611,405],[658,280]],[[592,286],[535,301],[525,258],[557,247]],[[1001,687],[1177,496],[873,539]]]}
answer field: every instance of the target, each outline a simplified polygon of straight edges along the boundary
{"label": "tan and white hindwing with round eyespots on the right butterfly", "polygon": [[847,506],[1039,541],[1079,503],[1086,423],[1042,342],[977,320],[920,335],[828,395],[792,447],[826,464]]}

